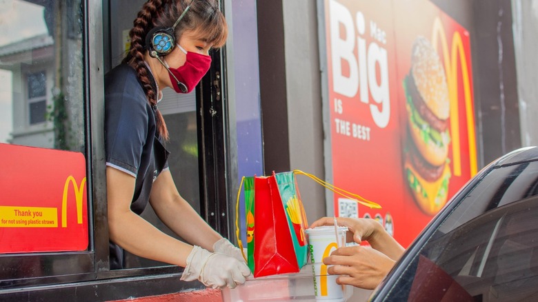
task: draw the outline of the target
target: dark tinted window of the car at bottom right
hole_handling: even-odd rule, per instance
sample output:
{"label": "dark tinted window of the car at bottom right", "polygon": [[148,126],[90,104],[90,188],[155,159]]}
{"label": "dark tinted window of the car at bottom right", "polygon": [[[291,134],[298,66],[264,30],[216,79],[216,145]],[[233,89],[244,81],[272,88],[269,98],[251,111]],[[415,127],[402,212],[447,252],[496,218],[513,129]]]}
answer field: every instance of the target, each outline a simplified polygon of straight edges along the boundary
{"label": "dark tinted window of the car at bottom right", "polygon": [[492,170],[413,258],[388,301],[538,299],[538,163]]}

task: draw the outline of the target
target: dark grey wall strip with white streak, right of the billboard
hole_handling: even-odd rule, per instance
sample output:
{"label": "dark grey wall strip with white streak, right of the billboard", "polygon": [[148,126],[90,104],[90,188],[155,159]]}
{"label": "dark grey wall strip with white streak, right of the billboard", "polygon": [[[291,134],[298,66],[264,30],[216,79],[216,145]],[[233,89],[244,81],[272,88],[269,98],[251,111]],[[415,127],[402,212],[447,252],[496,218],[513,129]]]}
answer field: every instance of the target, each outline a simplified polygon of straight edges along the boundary
{"label": "dark grey wall strip with white streak, right of the billboard", "polygon": [[472,3],[472,53],[482,165],[521,147],[510,1]]}

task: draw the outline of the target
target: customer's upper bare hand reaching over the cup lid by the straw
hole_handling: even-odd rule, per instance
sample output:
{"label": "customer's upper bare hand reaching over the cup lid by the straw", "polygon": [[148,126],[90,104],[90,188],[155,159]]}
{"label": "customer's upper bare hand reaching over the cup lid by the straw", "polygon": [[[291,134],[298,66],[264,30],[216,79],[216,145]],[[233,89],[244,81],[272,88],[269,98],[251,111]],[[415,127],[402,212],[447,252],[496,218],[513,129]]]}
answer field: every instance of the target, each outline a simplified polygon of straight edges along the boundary
{"label": "customer's upper bare hand reaching over the cup lid by the straw", "polygon": [[[315,228],[321,225],[334,225],[334,219],[334,217],[323,217],[314,221],[314,223],[310,225],[310,228]],[[346,232],[346,242],[355,241],[360,244],[362,241],[371,241],[375,238],[378,232],[385,231],[381,223],[374,219],[337,217],[337,223],[339,226],[348,227],[348,232]]]}

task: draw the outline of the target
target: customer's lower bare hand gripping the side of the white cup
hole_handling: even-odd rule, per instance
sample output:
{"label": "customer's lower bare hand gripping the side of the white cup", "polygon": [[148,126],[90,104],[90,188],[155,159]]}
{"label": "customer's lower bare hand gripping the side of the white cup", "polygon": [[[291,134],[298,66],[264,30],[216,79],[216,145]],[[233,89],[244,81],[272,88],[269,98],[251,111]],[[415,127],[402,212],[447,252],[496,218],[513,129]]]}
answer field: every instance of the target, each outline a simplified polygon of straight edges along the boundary
{"label": "customer's lower bare hand gripping the side of the white cup", "polygon": [[339,248],[323,259],[329,274],[339,274],[338,284],[373,290],[390,272],[395,261],[366,246]]}

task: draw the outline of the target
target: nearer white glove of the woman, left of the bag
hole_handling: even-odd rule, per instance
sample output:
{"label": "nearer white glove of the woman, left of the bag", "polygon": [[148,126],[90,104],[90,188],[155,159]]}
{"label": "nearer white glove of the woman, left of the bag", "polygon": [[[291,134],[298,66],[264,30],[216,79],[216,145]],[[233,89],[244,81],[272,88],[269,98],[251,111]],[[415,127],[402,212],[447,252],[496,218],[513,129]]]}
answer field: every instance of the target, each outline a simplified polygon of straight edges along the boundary
{"label": "nearer white glove of the woman, left of the bag", "polygon": [[245,283],[245,277],[250,275],[250,269],[243,262],[220,253],[212,253],[195,245],[187,257],[187,266],[181,280],[199,280],[212,288],[235,288],[237,284]]}

